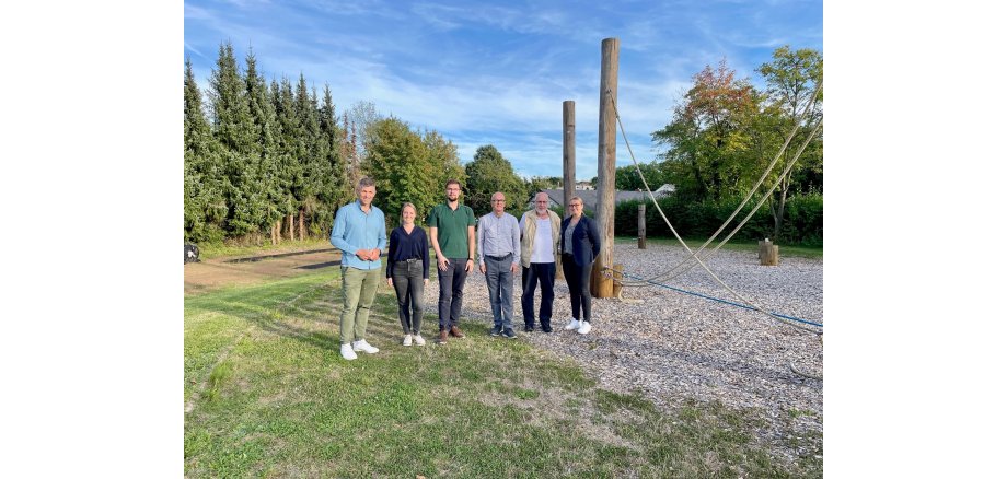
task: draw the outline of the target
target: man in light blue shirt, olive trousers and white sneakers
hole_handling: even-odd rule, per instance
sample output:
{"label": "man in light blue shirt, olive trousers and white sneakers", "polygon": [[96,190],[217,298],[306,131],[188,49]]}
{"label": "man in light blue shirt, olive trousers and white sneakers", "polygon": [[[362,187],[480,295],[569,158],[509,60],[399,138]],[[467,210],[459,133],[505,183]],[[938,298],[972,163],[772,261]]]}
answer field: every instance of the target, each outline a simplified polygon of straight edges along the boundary
{"label": "man in light blue shirt, olive trousers and white sneakers", "polygon": [[381,250],[387,243],[384,213],[371,205],[377,194],[374,180],[362,178],[357,185],[357,200],[336,211],[328,241],[343,252],[343,316],[339,320],[339,353],[344,359],[357,359],[355,351],[368,354],[378,348],[368,344],[367,319],[384,279]]}

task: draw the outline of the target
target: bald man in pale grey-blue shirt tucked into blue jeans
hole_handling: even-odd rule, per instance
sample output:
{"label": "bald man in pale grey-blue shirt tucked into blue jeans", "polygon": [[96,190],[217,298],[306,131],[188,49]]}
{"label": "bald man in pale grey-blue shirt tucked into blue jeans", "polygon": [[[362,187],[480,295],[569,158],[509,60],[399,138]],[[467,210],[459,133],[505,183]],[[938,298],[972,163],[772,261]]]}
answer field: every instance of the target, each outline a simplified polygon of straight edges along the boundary
{"label": "bald man in pale grey-blue shirt tucked into blue jeans", "polygon": [[486,274],[493,309],[490,336],[516,338],[513,329],[514,273],[521,262],[521,231],[518,219],[505,212],[507,201],[497,191],[490,198],[493,212],[479,218],[479,271]]}

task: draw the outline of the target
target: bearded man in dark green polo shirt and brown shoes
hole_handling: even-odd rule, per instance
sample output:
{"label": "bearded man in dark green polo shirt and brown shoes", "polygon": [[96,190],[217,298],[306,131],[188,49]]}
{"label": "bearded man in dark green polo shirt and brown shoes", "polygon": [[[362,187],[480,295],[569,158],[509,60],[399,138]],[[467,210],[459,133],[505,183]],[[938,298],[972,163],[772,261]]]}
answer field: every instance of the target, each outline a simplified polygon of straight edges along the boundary
{"label": "bearded man in dark green polo shirt and brown shoes", "polygon": [[427,220],[430,244],[437,253],[437,279],[440,283],[437,312],[439,344],[448,342],[448,335],[465,337],[458,327],[458,319],[462,312],[465,278],[475,265],[475,213],[459,201],[462,185],[456,179],[449,179],[445,188],[448,201],[433,207]]}

